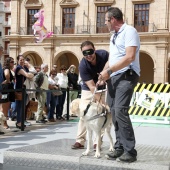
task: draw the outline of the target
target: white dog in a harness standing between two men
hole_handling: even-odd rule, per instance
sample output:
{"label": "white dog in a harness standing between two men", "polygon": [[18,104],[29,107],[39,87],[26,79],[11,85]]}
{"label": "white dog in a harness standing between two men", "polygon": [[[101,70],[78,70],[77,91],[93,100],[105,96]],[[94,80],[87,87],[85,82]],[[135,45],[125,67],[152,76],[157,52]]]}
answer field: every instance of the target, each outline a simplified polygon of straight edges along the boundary
{"label": "white dog in a harness standing between two men", "polygon": [[[90,103],[90,105],[88,105]],[[104,108],[105,109],[105,108]],[[110,134],[112,117],[109,113],[109,107],[106,107],[107,114],[106,116],[97,116],[98,118],[93,119],[93,116],[101,115],[103,113],[103,106],[99,103],[89,102],[89,100],[84,99],[75,99],[70,105],[70,110],[72,114],[75,114],[84,119],[86,123],[87,130],[87,149],[82,155],[88,155],[90,153],[90,146],[92,144],[92,132],[96,134],[97,138],[97,147],[96,147],[96,158],[100,157],[100,148],[101,148],[101,130],[104,128],[109,137],[110,149],[113,151],[113,140]],[[91,119],[91,120],[90,120]]]}

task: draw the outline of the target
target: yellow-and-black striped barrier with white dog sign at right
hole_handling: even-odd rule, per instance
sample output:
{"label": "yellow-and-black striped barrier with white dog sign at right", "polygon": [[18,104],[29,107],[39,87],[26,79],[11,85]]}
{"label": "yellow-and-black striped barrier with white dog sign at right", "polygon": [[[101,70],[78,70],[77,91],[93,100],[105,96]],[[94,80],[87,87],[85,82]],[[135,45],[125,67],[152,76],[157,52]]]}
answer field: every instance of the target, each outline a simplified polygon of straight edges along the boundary
{"label": "yellow-and-black striped barrier with white dog sign at right", "polygon": [[[138,100],[140,100],[140,97],[144,91],[148,91],[153,95],[154,94],[156,95],[155,98],[157,98],[157,101],[155,105],[152,107],[152,109],[148,109],[147,107],[143,107],[142,105],[139,104],[140,102]],[[169,117],[170,116],[170,84],[138,83],[134,89],[134,94],[132,96],[132,100],[129,108],[129,114],[137,115],[137,116]]]}

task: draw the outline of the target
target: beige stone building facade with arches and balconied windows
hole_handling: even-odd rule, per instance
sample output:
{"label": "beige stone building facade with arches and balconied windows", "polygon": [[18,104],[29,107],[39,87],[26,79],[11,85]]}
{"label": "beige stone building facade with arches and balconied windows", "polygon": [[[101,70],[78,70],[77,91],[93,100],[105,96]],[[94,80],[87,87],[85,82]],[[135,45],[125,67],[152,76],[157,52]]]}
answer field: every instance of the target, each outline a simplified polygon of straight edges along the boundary
{"label": "beige stone building facade with arches and balconied windows", "polygon": [[[168,0],[13,0],[11,2],[10,56],[23,54],[38,66],[48,63],[77,67],[85,40],[96,49],[109,51],[111,33],[104,26],[104,10],[119,7],[127,24],[133,25],[141,40],[140,82],[170,82],[170,2]],[[50,38],[35,43],[33,14],[44,10],[44,25]],[[59,71],[59,70],[58,70]],[[78,70],[77,70],[78,72]]]}

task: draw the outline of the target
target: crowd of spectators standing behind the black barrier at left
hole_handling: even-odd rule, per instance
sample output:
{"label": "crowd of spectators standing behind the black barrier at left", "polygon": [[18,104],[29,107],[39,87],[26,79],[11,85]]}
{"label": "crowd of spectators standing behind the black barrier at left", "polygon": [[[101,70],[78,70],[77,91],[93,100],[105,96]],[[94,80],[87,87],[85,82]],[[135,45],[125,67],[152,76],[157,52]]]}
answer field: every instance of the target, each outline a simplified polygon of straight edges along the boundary
{"label": "crowd of spectators standing behind the black barrier at left", "polygon": [[[2,56],[2,53],[3,47],[0,47],[0,56]],[[27,113],[30,110],[29,102],[31,100],[38,103],[37,112],[35,113],[37,124],[46,123],[47,121],[55,122],[56,119],[65,120],[65,115],[67,114],[67,100],[65,100],[67,98],[67,88],[70,89],[69,102],[78,97],[78,92],[76,91],[78,74],[75,71],[75,65],[71,65],[68,69],[65,65],[61,65],[59,73],[57,73],[57,65],[53,65],[53,68],[49,71],[48,64],[45,63],[41,64],[39,69],[39,67],[34,67],[30,63],[30,59],[24,58],[23,55],[17,56],[17,64],[14,63],[12,57],[5,58],[4,65],[0,64],[0,112],[7,119],[4,121],[3,128],[10,130],[8,120],[13,121],[16,119],[16,128],[21,129],[23,99],[19,100],[16,96],[20,92],[5,92],[4,90],[19,90],[23,87],[37,90],[36,93],[35,91],[26,90],[24,99],[25,127],[31,125],[27,121]],[[2,131],[1,134],[4,134],[4,132]]]}

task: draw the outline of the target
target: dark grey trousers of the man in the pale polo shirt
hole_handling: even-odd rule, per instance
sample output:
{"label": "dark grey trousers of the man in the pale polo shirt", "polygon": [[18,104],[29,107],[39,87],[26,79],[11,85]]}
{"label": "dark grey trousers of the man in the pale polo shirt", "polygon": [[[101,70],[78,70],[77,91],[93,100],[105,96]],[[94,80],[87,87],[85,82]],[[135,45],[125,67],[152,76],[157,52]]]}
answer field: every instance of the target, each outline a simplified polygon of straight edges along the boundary
{"label": "dark grey trousers of the man in the pale polo shirt", "polygon": [[107,103],[111,109],[112,121],[115,126],[115,149],[123,149],[132,156],[137,155],[135,150],[135,136],[128,114],[130,100],[139,76],[133,72],[121,73],[108,80]]}

